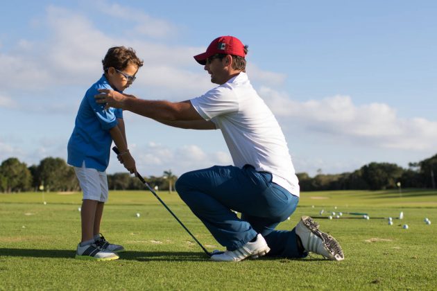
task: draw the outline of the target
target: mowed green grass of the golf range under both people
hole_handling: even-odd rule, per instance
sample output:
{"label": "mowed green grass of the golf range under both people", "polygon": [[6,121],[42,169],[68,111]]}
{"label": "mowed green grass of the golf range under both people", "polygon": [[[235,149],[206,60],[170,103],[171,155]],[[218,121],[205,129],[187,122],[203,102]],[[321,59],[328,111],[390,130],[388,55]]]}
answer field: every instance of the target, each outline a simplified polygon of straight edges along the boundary
{"label": "mowed green grass of the golf range under both people", "polygon": [[[177,194],[158,194],[209,251],[222,249]],[[316,219],[340,241],[341,262],[318,256],[211,262],[148,191],[112,191],[105,206],[103,235],[127,252],[117,261],[80,261],[74,258],[80,199],[81,193],[45,193],[44,205],[41,193],[0,194],[0,290],[436,290],[437,191],[302,193],[278,229],[322,209],[370,215]],[[391,226],[376,219],[400,211],[404,219]]]}

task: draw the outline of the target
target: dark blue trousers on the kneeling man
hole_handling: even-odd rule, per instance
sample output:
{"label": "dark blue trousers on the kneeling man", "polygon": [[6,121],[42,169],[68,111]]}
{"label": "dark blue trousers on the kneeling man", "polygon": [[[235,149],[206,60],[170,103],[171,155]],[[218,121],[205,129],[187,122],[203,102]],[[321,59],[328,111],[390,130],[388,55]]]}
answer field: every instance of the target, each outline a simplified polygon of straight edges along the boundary
{"label": "dark blue trousers on the kneeling man", "polygon": [[[233,251],[261,233],[271,252],[268,256],[303,258],[295,229],[277,231],[289,218],[299,197],[271,182],[272,175],[246,165],[213,166],[180,176],[175,188],[191,211],[205,224],[212,236]],[[232,212],[241,213],[241,218]]]}

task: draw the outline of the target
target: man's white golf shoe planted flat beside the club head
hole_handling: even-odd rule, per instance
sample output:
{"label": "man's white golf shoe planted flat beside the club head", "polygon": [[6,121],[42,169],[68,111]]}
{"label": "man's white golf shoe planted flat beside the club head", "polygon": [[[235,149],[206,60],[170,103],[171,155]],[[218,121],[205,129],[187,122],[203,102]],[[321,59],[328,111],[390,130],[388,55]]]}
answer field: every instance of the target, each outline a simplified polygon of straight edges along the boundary
{"label": "man's white golf shoe planted flat beside the club head", "polygon": [[238,262],[244,260],[245,258],[258,258],[259,256],[264,256],[270,252],[270,247],[268,247],[266,240],[258,233],[257,240],[253,243],[246,243],[243,247],[236,249],[234,251],[225,251],[223,254],[213,254],[211,256],[212,261],[225,261],[225,262]]}

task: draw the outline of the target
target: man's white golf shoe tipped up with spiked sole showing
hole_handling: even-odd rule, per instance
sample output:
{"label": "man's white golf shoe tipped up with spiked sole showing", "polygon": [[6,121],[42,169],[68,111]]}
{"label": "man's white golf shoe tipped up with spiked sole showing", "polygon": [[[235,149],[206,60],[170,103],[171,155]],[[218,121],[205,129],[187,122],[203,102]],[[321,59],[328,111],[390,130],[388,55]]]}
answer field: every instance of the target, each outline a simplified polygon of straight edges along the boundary
{"label": "man's white golf shoe tipped up with spiked sole showing", "polygon": [[339,242],[320,231],[318,223],[309,216],[302,216],[295,229],[307,252],[320,254],[332,261],[341,261],[345,258]]}

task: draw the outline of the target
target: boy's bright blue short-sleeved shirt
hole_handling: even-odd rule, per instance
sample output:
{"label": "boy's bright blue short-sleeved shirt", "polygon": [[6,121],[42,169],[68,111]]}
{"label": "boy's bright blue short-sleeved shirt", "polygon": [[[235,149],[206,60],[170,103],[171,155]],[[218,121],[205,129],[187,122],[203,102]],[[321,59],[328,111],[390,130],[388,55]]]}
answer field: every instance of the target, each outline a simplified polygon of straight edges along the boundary
{"label": "boy's bright blue short-sleeved shirt", "polygon": [[67,163],[71,166],[94,168],[103,172],[108,168],[112,136],[109,130],[123,118],[123,110],[96,103],[97,89],[113,89],[105,75],[92,85],[83,97],[76,116],[73,133],[68,141]]}

